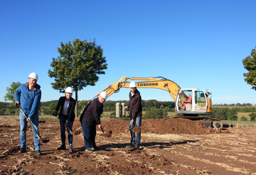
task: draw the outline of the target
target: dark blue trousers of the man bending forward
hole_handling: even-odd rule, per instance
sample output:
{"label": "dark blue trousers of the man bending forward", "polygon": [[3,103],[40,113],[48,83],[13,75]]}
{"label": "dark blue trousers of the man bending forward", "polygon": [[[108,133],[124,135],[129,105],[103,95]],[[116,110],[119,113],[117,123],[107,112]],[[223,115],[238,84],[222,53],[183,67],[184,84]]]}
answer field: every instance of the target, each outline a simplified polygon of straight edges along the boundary
{"label": "dark blue trousers of the man bending forward", "polygon": [[82,123],[82,129],[84,134],[84,146],[87,148],[95,148],[95,137],[96,137],[96,125],[87,125]]}

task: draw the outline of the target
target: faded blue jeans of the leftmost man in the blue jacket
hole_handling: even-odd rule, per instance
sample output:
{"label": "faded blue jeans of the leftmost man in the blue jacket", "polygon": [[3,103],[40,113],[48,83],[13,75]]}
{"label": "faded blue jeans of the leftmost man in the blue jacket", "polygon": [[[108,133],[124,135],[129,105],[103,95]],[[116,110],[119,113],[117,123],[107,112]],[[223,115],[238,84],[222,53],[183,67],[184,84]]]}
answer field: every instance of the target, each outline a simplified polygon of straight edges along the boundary
{"label": "faded blue jeans of the leftmost man in the blue jacket", "polygon": [[[29,114],[27,114],[29,115]],[[35,114],[33,118],[31,118],[31,124],[36,128],[36,132],[39,135],[39,130],[38,130],[38,124],[39,124],[39,118],[38,114]],[[26,131],[27,131],[27,119],[23,115],[22,112],[20,112],[20,148],[26,148]],[[30,124],[29,124],[30,125]],[[35,130],[32,128],[33,133],[34,133],[34,144],[35,144],[35,150],[40,150],[40,143],[37,138]],[[39,135],[40,136],[40,135]]]}

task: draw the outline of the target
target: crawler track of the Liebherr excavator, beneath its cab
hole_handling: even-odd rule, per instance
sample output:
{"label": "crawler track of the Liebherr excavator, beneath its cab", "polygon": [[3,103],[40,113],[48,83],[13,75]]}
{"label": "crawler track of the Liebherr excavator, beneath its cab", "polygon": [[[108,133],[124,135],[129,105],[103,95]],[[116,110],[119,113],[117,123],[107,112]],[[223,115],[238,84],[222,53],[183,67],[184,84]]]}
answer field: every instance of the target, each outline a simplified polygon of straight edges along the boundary
{"label": "crawler track of the Liebherr excavator, beneath its cab", "polygon": [[210,118],[210,117],[189,117],[189,116],[176,116],[173,118],[185,118],[189,120],[193,120],[198,123],[202,123],[206,127],[212,127],[214,129],[222,129],[223,123],[216,118]]}

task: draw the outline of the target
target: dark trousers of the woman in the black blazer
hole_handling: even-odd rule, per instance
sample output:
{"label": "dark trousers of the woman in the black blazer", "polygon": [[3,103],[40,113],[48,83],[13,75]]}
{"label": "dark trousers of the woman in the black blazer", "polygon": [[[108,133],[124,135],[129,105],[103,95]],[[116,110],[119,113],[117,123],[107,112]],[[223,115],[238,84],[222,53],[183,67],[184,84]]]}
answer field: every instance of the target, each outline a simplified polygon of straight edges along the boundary
{"label": "dark trousers of the woman in the black blazer", "polygon": [[[64,125],[64,123],[66,123],[66,120],[68,118],[68,115],[64,115],[64,114],[60,114],[60,138],[61,138],[61,143],[66,143],[66,127]],[[73,126],[73,122],[68,121],[68,128],[72,131],[72,126]],[[68,132],[68,128],[67,128],[67,132]],[[68,132],[69,133],[69,132]],[[73,134],[68,134],[68,143],[72,145],[73,142]]]}

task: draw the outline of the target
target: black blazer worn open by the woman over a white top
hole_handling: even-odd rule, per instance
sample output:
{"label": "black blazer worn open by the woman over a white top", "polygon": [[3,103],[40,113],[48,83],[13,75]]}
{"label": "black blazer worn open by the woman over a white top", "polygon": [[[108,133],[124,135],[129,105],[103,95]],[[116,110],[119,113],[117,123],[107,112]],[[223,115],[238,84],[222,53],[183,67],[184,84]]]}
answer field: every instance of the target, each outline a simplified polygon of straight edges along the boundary
{"label": "black blazer worn open by the woman over a white top", "polygon": [[[55,109],[56,111],[58,111],[60,109],[60,114],[62,112],[65,100],[66,100],[66,96],[60,97],[57,107]],[[60,106],[61,106],[61,108],[60,108]],[[75,120],[75,112],[74,112],[75,106],[76,106],[76,100],[71,97],[69,100],[69,104],[68,104],[68,118],[67,118],[68,121],[74,122],[74,120]],[[60,116],[60,114],[59,114],[59,116]]]}

